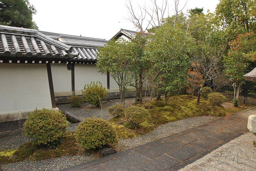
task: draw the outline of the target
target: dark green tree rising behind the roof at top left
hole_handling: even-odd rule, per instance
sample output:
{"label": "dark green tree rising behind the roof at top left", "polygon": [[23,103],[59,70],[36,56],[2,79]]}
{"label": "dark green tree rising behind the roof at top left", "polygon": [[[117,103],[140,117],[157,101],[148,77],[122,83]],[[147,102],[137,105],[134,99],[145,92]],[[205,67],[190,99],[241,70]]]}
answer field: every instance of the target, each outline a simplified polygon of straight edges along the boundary
{"label": "dark green tree rising behind the roof at top left", "polygon": [[[0,2],[0,25],[35,28],[32,15],[36,9],[29,4],[28,0],[1,0]],[[38,27],[37,27],[38,29]]]}

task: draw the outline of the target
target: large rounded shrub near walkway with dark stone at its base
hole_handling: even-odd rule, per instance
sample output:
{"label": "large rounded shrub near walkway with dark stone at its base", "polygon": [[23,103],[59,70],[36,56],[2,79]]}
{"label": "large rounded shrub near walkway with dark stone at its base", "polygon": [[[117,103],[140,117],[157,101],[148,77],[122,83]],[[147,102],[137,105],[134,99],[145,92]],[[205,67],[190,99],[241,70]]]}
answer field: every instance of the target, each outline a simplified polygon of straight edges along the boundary
{"label": "large rounded shrub near walkway with dark stone at its base", "polygon": [[76,140],[85,149],[97,149],[118,141],[112,125],[99,118],[87,118],[81,122],[76,129]]}

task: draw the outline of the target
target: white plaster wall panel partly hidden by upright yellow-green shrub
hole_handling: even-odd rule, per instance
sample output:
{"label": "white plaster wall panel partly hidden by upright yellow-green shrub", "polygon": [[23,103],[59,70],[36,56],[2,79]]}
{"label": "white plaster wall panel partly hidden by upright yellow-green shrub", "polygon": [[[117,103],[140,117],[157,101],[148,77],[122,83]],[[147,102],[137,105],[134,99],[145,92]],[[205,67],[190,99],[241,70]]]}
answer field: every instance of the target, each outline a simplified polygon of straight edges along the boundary
{"label": "white plaster wall panel partly hidden by upright yellow-green shrub", "polygon": [[75,90],[84,89],[84,85],[91,81],[100,81],[107,89],[107,75],[97,72],[96,64],[75,64]]}

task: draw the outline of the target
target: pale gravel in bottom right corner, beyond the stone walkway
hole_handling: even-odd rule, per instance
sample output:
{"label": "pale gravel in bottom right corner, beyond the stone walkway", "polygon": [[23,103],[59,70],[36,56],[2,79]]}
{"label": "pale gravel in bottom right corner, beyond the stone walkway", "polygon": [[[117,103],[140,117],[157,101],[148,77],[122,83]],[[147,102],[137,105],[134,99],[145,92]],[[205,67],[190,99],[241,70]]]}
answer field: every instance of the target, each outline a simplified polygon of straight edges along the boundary
{"label": "pale gravel in bottom right corner, beyond the stone walkway", "polygon": [[180,171],[255,171],[256,147],[253,141],[256,141],[256,136],[247,132]]}

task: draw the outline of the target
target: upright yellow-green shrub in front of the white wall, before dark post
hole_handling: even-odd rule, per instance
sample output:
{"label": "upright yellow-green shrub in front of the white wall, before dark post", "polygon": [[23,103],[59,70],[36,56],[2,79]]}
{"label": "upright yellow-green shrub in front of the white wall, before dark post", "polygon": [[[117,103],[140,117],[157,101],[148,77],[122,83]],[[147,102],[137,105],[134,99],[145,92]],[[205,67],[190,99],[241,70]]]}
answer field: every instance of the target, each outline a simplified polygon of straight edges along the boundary
{"label": "upright yellow-green shrub in front of the white wall, before dark post", "polygon": [[91,82],[90,85],[84,85],[82,93],[84,95],[84,100],[95,106],[100,106],[100,100],[108,94],[107,90],[105,87],[102,87],[100,82],[96,82],[95,84],[94,81]]}

